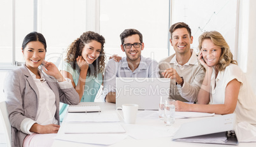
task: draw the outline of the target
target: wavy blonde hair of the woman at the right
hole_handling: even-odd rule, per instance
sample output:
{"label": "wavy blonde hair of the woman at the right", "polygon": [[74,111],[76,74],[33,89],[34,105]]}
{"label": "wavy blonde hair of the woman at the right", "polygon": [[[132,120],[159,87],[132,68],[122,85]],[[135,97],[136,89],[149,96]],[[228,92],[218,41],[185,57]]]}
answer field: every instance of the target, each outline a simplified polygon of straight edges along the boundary
{"label": "wavy blonde hair of the woman at the right", "polygon": [[[229,45],[227,45],[227,42],[225,41],[224,37],[220,32],[217,31],[209,31],[204,32],[201,34],[201,36],[198,38],[199,50],[202,49],[202,43],[204,39],[211,39],[214,45],[220,47],[222,49],[222,53],[220,55],[220,60],[218,61],[218,64],[216,65],[218,71],[223,71],[229,64],[238,64],[236,60],[233,60],[233,55],[231,53],[231,50],[229,49]],[[205,70],[205,69],[204,69]]]}

